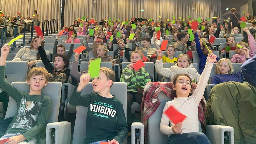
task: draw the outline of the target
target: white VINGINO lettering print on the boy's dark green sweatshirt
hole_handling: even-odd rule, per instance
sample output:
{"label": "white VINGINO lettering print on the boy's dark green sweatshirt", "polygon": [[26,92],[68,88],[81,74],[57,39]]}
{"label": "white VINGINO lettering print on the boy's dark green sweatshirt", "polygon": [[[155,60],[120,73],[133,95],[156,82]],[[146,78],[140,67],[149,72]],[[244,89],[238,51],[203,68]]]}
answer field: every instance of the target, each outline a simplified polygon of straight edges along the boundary
{"label": "white VINGINO lettering print on the boy's dark green sweatshirt", "polygon": [[94,101],[93,104],[90,104],[90,111],[93,112],[93,115],[109,118],[116,115],[116,111],[113,110],[114,106],[104,103]]}

